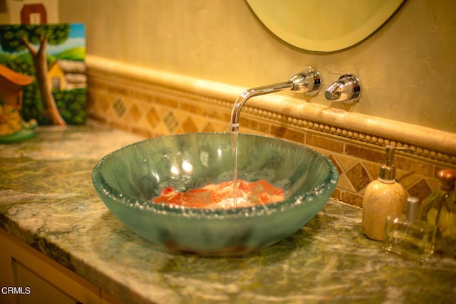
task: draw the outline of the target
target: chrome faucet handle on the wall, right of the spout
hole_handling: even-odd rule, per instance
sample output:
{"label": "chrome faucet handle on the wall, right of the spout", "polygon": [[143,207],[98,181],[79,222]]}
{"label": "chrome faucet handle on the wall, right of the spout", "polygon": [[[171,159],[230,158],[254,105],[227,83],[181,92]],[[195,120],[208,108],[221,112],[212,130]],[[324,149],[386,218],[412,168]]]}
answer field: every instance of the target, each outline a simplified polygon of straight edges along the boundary
{"label": "chrome faucet handle on the wall, right of the spout", "polygon": [[344,103],[358,103],[361,97],[361,83],[355,75],[345,74],[325,91],[325,98],[330,101],[343,101]]}

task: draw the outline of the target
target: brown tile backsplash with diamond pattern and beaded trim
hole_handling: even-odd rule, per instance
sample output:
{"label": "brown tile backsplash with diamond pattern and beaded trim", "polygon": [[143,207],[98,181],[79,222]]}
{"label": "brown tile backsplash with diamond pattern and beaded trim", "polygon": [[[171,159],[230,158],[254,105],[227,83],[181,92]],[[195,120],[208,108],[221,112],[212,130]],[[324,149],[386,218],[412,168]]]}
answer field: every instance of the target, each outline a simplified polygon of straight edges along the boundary
{"label": "brown tile backsplash with diamond pattern and beaded trim", "polygon": [[[148,137],[227,132],[234,102],[90,69],[88,94],[90,117]],[[398,180],[410,196],[424,199],[438,188],[435,175],[439,169],[456,169],[456,155],[249,105],[242,110],[240,131],[281,137],[326,155],[340,173],[333,196],[356,206],[362,206],[366,186],[378,177],[380,164],[385,159],[384,145],[393,144],[416,152],[396,152],[395,156]]]}

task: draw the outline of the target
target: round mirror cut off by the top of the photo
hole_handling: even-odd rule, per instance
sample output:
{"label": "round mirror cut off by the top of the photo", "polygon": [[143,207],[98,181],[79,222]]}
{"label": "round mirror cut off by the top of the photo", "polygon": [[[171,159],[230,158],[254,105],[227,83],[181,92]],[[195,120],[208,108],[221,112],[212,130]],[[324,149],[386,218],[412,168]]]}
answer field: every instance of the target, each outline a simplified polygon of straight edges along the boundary
{"label": "round mirror cut off by the top of the photo", "polygon": [[405,0],[246,0],[274,35],[308,51],[333,52],[363,41]]}

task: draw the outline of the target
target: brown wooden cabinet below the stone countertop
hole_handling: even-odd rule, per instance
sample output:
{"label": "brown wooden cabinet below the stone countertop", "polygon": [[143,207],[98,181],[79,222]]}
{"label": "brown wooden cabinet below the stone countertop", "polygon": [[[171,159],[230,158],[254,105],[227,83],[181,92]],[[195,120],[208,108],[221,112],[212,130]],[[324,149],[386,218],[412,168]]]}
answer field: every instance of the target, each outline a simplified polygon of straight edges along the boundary
{"label": "brown wooden cabinet below the stone countertop", "polygon": [[119,303],[100,288],[0,229],[1,304]]}

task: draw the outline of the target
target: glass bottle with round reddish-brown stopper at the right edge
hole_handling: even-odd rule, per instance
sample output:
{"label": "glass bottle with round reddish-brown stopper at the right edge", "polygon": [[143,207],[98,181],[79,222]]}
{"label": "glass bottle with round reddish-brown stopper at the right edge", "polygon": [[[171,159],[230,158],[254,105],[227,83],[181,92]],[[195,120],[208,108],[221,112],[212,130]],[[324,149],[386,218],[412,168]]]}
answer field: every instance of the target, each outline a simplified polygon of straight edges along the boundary
{"label": "glass bottle with round reddish-brown stopper at the right edge", "polygon": [[456,171],[437,173],[440,189],[430,194],[420,206],[420,218],[435,224],[435,254],[456,258]]}

